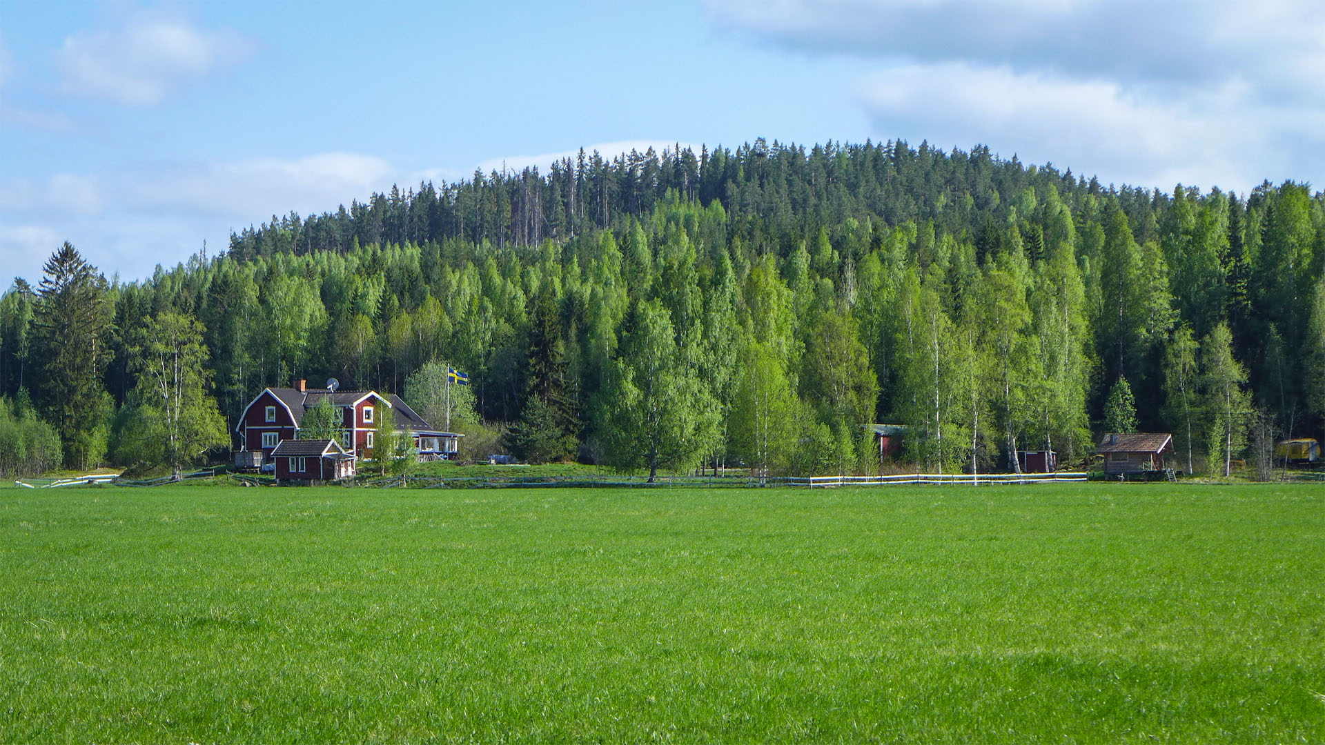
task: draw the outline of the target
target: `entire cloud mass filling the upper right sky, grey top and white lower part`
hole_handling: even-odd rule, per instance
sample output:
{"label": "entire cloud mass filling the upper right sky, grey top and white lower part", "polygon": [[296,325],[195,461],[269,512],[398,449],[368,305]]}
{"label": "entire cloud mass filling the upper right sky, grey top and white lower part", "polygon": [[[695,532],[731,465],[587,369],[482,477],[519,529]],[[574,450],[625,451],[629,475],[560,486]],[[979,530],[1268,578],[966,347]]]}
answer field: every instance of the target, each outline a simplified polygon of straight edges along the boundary
{"label": "entire cloud mass filling the upper right sky, grey top and white lower part", "polygon": [[877,137],[988,144],[1105,180],[1325,180],[1325,4],[710,0],[719,25],[874,65]]}

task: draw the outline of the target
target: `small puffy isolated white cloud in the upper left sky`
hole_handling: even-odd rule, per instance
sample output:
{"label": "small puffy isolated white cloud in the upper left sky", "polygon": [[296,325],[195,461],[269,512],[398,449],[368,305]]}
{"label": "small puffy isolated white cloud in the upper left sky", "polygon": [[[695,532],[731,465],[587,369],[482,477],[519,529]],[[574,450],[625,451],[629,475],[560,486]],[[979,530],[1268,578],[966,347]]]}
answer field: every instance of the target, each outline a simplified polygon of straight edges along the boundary
{"label": "small puffy isolated white cloud in the upper left sky", "polygon": [[231,29],[138,16],[118,29],[76,33],[56,54],[61,90],[70,95],[147,106],[253,53]]}

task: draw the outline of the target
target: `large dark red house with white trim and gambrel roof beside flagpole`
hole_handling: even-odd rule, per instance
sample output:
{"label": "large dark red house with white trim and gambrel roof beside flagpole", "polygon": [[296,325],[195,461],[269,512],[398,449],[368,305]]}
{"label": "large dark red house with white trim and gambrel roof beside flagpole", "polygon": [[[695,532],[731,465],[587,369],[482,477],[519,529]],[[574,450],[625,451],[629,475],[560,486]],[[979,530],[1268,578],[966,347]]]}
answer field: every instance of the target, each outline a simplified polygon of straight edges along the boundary
{"label": "large dark red house with white trim and gambrel roof beside flagpole", "polygon": [[235,426],[240,436],[240,451],[260,451],[264,461],[272,457],[281,441],[298,439],[303,415],[323,400],[330,400],[341,412],[343,430],[337,441],[347,452],[372,455],[378,432],[375,407],[386,406],[395,414],[396,430],[413,435],[420,455],[457,457],[460,437],[464,435],[433,430],[400,396],[333,387],[310,390],[305,380],[295,380],[290,388],[265,388],[244,408]]}

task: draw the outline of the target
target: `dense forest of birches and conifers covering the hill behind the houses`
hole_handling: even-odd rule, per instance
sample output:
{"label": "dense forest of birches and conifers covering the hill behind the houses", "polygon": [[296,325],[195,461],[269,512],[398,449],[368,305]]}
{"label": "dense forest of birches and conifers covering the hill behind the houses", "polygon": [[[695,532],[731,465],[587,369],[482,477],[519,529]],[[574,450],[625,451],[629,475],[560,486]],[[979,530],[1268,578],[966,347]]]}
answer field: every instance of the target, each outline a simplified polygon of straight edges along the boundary
{"label": "dense forest of birches and conifers covering the hill behind the houses", "polygon": [[886,422],[933,469],[1140,428],[1223,471],[1322,435],[1322,265],[1325,199],[1291,182],[1117,188],[905,142],[582,152],[273,216],[143,281],[61,248],[0,298],[0,451],[37,422],[70,467],[178,464],[264,386],[411,400],[441,361],[474,447],[531,460],[869,472]]}

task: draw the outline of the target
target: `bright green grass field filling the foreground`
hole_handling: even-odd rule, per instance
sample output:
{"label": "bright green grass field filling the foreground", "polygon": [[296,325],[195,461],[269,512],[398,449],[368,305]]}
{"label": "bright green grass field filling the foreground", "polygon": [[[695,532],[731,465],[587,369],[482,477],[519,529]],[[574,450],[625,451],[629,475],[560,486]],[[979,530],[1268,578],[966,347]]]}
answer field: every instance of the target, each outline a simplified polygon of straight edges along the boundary
{"label": "bright green grass field filling the foreground", "polygon": [[1325,741],[1325,489],[0,490],[0,741]]}

